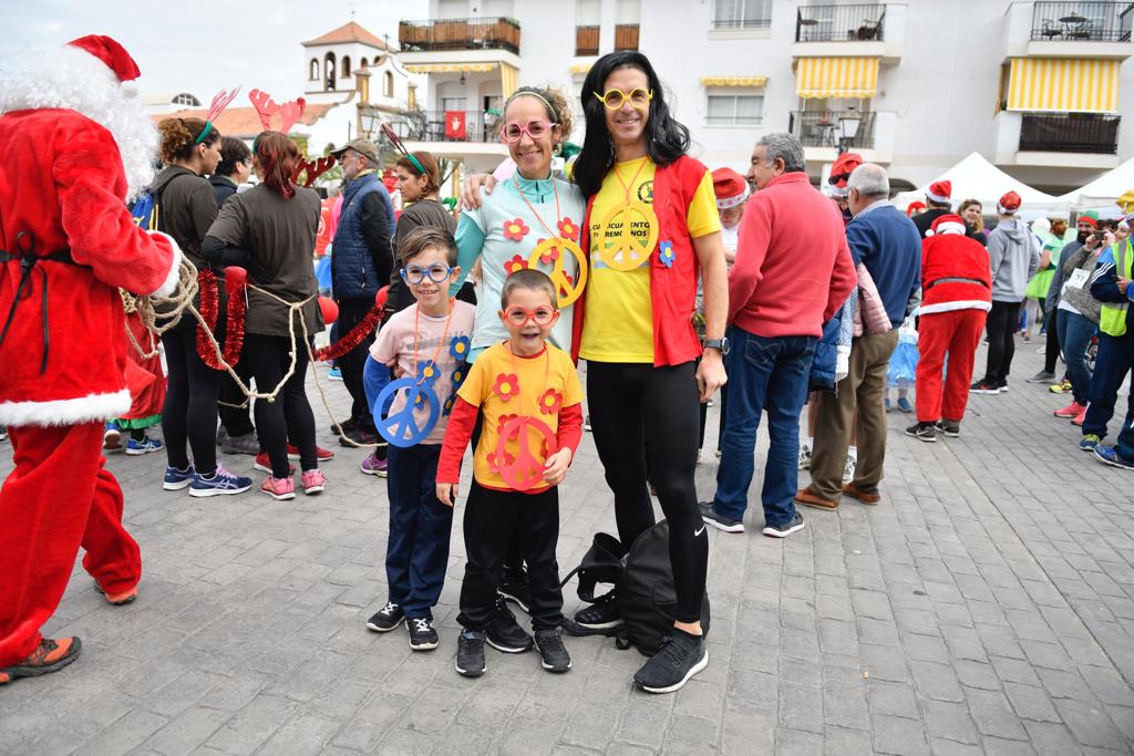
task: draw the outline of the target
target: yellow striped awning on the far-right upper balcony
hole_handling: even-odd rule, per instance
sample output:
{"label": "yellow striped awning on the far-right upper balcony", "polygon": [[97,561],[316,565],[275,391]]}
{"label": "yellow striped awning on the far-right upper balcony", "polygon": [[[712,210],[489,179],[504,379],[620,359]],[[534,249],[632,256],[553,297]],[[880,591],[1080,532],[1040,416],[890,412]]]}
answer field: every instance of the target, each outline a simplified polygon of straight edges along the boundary
{"label": "yellow striped awning on the far-right upper balcony", "polygon": [[1013,58],[1008,110],[1118,112],[1119,60]]}

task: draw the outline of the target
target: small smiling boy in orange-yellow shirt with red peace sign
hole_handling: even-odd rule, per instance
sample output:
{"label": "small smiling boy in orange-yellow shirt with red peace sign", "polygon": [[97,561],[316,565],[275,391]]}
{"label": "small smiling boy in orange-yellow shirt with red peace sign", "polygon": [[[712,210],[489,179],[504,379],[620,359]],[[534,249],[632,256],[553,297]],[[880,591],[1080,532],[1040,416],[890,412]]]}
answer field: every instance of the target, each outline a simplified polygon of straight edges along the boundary
{"label": "small smiling boy in orange-yellow shirt with red peace sign", "polygon": [[516,271],[505,281],[500,299],[499,315],[509,340],[489,347],[473,363],[457,391],[437,469],[437,496],[451,507],[460,458],[477,411],[482,413],[465,508],[467,564],[457,617],[464,630],[456,666],[465,677],[484,673],[484,630],[496,608],[508,544],[517,532],[527,544],[530,613],[543,669],[570,669],[560,636],[557,486],[583,436],[583,387],[570,357],[547,343],[559,318],[551,279],[538,270]]}

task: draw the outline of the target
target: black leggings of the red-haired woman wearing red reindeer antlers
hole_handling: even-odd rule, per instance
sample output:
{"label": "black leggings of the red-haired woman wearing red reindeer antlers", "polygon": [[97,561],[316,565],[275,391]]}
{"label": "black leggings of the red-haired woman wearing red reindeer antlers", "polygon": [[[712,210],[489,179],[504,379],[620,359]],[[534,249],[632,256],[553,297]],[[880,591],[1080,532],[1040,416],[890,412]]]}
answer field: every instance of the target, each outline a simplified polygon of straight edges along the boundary
{"label": "black leggings of the red-haired woman wearing red reindeer antlers", "polygon": [[[279,385],[291,364],[291,339],[284,335],[248,333],[244,337],[244,357],[256,379],[256,390],[269,392]],[[310,358],[302,339],[296,340],[295,372],[280,389],[276,401],[256,400],[256,427],[260,442],[272,460],[272,476],[290,477],[287,441],[290,436],[299,449],[299,464],[305,470],[319,467],[315,458],[315,415],[304,390]]]}

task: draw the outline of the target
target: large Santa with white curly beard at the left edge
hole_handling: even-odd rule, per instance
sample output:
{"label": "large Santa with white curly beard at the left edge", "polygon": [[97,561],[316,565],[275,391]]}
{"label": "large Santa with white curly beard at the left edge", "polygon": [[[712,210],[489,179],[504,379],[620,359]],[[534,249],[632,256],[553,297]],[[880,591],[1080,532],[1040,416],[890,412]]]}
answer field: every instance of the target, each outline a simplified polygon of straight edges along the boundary
{"label": "large Santa with white curly beard at the left edge", "polygon": [[0,683],[78,654],[77,638],[40,628],[79,546],[112,603],[142,575],[100,450],[103,423],[130,407],[118,288],[169,295],[180,264],[174,240],[126,210],[156,142],[122,86],[138,74],[104,36],[0,61],[0,425],[15,461],[0,487]]}

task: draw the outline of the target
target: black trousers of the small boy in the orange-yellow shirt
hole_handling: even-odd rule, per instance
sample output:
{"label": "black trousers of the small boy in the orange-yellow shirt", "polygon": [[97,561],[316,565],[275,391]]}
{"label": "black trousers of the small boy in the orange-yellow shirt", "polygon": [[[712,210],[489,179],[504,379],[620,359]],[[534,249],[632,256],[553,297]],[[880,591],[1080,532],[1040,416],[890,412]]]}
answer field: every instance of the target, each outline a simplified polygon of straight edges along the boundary
{"label": "black trousers of the small boy in the orange-yellow shirt", "polygon": [[497,586],[508,547],[523,541],[532,587],[533,630],[562,625],[564,594],[559,588],[559,490],[542,493],[492,491],[473,481],[465,503],[465,580],[460,584],[462,627],[483,630],[496,609]]}

